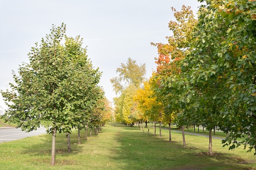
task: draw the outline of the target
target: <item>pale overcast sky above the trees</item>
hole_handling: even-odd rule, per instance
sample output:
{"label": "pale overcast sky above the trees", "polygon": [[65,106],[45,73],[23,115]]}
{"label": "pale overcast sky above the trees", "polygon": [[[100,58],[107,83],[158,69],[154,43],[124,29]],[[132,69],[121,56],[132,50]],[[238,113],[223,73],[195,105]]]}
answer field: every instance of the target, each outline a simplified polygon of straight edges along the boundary
{"label": "pale overcast sky above the trees", "polygon": [[[0,89],[13,82],[11,71],[28,62],[27,53],[64,22],[69,37],[80,35],[88,57],[103,72],[100,86],[112,101],[110,79],[128,57],[146,63],[147,77],[156,65],[157,49],[150,42],[166,43],[174,20],[171,7],[182,5],[197,12],[197,0],[0,0]],[[0,97],[0,108],[5,107]]]}

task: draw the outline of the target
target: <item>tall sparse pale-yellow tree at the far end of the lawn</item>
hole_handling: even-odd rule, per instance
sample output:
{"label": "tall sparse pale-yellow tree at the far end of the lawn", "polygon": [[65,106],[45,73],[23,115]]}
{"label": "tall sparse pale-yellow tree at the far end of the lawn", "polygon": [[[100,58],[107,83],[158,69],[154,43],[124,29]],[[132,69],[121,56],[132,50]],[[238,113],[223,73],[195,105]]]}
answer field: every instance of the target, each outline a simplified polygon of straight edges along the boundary
{"label": "tall sparse pale-yellow tree at the far end of the lawn", "polygon": [[126,64],[121,63],[117,68],[119,77],[110,79],[116,94],[119,97],[114,99],[116,119],[125,124],[133,124],[137,119],[137,111],[132,96],[145,80],[146,65],[138,65],[135,60],[128,58]]}

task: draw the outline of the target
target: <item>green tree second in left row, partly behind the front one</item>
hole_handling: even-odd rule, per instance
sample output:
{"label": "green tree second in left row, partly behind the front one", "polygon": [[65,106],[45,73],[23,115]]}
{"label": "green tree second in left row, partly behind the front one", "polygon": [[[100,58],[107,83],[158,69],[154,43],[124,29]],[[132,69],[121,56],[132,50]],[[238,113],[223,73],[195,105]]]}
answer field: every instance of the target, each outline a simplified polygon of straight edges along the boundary
{"label": "green tree second in left row, partly behind the front one", "polygon": [[[81,45],[79,36],[76,38],[67,38],[65,36],[65,53],[67,57],[72,59],[72,64],[74,64],[73,67],[70,66],[69,68],[72,71],[70,80],[68,80],[68,86],[71,89],[66,91],[66,99],[73,106],[74,110],[72,111],[74,115],[79,115],[73,118],[73,121],[76,123],[72,126],[79,130],[84,128],[85,122],[88,122],[91,110],[97,107],[98,101],[104,95],[103,90],[94,83],[94,81],[99,82],[99,77],[95,77],[99,74],[97,73],[98,69],[94,70],[91,61],[87,58],[86,49],[83,49]],[[72,99],[70,96],[75,96],[76,98]],[[71,152],[70,132],[67,132],[67,139],[68,152]]]}

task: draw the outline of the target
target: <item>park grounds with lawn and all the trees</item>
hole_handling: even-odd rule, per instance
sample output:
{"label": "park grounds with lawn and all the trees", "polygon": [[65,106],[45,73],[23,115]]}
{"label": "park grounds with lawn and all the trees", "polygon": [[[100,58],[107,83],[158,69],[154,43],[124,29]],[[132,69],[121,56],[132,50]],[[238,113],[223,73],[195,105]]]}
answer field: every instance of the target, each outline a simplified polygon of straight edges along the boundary
{"label": "park grounds with lawn and all the trees", "polygon": [[4,126],[47,134],[0,144],[0,167],[255,170],[256,0],[199,1],[197,17],[171,7],[150,77],[117,67],[113,103],[83,38],[52,24],[0,91]]}

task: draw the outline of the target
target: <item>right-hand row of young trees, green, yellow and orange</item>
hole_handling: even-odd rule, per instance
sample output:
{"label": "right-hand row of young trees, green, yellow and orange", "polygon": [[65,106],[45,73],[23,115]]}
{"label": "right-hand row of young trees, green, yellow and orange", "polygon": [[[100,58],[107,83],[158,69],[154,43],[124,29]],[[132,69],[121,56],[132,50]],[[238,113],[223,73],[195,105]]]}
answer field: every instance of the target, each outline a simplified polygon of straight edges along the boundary
{"label": "right-hand row of young trees, green, yellow and orange", "polygon": [[[159,53],[157,71],[133,92],[130,113],[137,108],[138,115],[143,115],[137,120],[160,124],[170,125],[175,119],[183,129],[184,125],[205,126],[209,155],[211,131],[218,127],[230,132],[222,141],[229,149],[249,145],[255,155],[256,1],[199,1],[203,5],[198,18],[190,7],[183,6],[180,12],[172,8],[176,21],[169,23],[169,29],[173,35],[167,37],[167,44],[152,43]],[[123,111],[116,109],[118,116]],[[245,140],[238,142],[243,136]]]}

